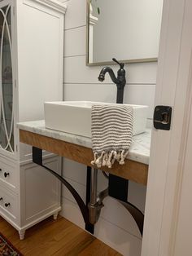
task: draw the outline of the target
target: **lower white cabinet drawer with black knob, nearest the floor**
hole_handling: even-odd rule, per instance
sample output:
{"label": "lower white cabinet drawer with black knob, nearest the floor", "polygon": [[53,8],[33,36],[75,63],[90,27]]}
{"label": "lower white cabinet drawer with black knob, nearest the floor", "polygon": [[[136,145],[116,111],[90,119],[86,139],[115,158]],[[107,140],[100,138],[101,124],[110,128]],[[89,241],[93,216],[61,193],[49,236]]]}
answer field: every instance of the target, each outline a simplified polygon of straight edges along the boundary
{"label": "lower white cabinet drawer with black knob, nearest the floor", "polygon": [[[0,183],[1,186],[1,183]],[[7,189],[0,187],[0,212],[7,218],[11,218],[13,221],[16,219],[18,197]]]}

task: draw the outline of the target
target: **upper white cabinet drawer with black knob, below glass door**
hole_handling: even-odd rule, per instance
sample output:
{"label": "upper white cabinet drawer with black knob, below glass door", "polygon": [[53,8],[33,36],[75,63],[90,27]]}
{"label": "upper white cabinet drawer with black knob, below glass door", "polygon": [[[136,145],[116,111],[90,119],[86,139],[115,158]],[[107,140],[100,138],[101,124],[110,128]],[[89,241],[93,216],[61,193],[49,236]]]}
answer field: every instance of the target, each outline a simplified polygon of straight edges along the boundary
{"label": "upper white cabinet drawer with black knob, below glass door", "polygon": [[10,189],[16,188],[16,166],[2,159],[0,159],[0,181],[7,184]]}

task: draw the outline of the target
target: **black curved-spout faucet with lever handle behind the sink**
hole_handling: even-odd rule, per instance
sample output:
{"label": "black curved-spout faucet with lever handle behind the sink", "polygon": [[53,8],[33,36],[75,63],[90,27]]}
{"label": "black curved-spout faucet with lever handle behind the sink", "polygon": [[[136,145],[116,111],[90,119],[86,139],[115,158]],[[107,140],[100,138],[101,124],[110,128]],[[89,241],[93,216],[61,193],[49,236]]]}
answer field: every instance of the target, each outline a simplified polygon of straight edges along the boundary
{"label": "black curved-spout faucet with lever handle behind the sink", "polygon": [[122,104],[124,101],[124,86],[126,84],[124,63],[120,63],[115,58],[112,60],[120,65],[120,69],[117,71],[117,77],[114,74],[112,68],[104,67],[98,76],[98,81],[103,82],[105,80],[105,74],[109,73],[112,82],[114,82],[117,87],[116,103]]}

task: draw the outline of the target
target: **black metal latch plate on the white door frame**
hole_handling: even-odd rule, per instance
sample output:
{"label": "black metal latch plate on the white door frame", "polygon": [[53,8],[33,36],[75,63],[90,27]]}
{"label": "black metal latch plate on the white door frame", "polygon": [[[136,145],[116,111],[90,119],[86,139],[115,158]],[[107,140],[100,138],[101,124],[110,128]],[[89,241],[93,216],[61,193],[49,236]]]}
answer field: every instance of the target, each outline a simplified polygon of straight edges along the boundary
{"label": "black metal latch plate on the white door frame", "polygon": [[159,130],[170,130],[172,108],[170,106],[156,106],[153,116],[153,125]]}

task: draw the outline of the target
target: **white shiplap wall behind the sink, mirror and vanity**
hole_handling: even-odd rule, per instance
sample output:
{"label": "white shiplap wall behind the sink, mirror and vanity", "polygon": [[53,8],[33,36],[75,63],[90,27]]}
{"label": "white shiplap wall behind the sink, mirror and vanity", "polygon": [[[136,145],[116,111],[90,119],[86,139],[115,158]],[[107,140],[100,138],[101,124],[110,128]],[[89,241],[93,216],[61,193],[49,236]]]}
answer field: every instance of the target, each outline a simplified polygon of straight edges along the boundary
{"label": "white shiplap wall behind the sink, mirror and vanity", "polygon": [[[116,85],[106,76],[105,82],[98,82],[102,66],[85,65],[86,1],[62,1],[68,6],[65,17],[64,37],[64,100],[95,100],[116,102]],[[113,68],[117,71],[117,66]],[[156,63],[126,64],[127,85],[124,90],[124,103],[146,104],[150,106],[148,122],[151,122],[156,80]],[[85,199],[86,166],[64,159],[63,176]],[[107,187],[103,174],[98,175],[98,190]],[[146,188],[129,183],[129,201],[144,211]],[[108,197],[98,223],[95,236],[123,255],[139,256],[142,239],[133,218],[116,200]],[[63,188],[62,214],[72,223],[84,228],[85,224],[76,202],[66,188]]]}

